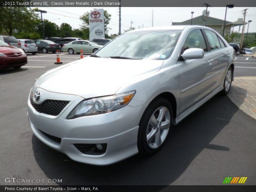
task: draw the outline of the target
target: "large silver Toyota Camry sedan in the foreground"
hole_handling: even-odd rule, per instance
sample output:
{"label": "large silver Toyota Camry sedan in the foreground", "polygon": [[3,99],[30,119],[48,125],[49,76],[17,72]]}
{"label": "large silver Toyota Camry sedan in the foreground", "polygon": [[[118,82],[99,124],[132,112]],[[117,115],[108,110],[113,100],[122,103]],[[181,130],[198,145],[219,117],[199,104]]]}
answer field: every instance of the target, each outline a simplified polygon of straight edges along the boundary
{"label": "large silver Toyota Camry sedan in the foreground", "polygon": [[96,165],[156,153],[173,125],[229,92],[235,53],[203,26],[132,30],[47,71],[28,96],[36,137]]}

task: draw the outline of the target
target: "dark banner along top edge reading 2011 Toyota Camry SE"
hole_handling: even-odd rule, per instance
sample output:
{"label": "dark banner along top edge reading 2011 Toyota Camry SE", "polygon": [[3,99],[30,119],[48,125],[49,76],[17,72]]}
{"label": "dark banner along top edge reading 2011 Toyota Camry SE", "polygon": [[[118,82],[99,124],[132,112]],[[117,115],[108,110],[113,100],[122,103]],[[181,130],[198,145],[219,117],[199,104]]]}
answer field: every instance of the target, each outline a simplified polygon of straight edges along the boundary
{"label": "dark banner along top edge reading 2011 Toyota Camry SE", "polygon": [[2,7],[256,7],[255,0],[0,0]]}

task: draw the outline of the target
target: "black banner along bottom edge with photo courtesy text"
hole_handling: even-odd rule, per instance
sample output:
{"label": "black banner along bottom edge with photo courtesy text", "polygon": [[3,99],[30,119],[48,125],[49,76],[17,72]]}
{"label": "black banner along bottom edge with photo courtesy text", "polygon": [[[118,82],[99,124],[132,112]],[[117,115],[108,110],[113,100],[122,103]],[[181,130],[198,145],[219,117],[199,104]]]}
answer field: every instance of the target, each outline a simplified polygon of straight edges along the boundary
{"label": "black banner along bottom edge with photo courtesy text", "polygon": [[0,191],[9,191],[9,192],[81,192],[81,191],[95,191],[95,192],[255,192],[256,186],[254,185],[88,185],[88,186],[78,186],[78,185],[1,185]]}

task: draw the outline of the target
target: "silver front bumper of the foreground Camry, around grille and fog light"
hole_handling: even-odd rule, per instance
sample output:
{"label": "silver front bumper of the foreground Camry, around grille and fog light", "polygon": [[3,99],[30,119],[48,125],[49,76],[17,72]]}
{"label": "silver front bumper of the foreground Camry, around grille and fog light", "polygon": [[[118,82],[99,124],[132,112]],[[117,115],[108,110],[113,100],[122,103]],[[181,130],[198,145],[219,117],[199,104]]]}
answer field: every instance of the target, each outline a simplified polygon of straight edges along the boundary
{"label": "silver front bumper of the foreground Camry, around grille and fog light", "polygon": [[[75,161],[95,165],[113,164],[138,153],[138,124],[146,105],[125,106],[105,114],[67,119],[69,112],[84,98],[47,92],[40,88],[36,88],[37,90],[41,91],[41,95],[47,95],[43,100],[49,98],[70,100],[58,116],[50,116],[38,113],[28,99],[30,127],[36,137],[49,147],[65,153]],[[41,131],[61,138],[61,142],[55,142]],[[86,155],[74,146],[74,144],[99,143],[107,143],[107,150],[103,155]]]}

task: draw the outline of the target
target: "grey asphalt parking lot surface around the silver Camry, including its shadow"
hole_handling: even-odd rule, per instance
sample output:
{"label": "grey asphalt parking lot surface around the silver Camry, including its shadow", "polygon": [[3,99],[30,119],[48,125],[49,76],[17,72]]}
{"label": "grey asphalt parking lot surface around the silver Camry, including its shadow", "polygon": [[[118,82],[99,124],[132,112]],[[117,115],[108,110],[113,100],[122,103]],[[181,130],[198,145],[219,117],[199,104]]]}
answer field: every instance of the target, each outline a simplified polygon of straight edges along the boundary
{"label": "grey asphalt parking lot surface around the silver Camry, including its shadow", "polygon": [[[79,58],[60,53],[63,64]],[[248,177],[245,184],[256,185],[256,120],[227,96],[214,96],[175,126],[154,156],[93,166],[47,147],[29,127],[27,98],[34,80],[59,66],[54,62],[56,54],[28,54],[26,66],[0,71],[0,185],[28,184],[6,177],[62,179],[60,185],[221,185],[226,177]],[[255,75],[256,58],[237,56],[235,76]]]}

